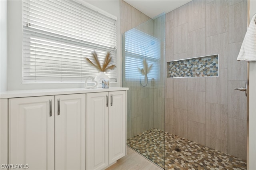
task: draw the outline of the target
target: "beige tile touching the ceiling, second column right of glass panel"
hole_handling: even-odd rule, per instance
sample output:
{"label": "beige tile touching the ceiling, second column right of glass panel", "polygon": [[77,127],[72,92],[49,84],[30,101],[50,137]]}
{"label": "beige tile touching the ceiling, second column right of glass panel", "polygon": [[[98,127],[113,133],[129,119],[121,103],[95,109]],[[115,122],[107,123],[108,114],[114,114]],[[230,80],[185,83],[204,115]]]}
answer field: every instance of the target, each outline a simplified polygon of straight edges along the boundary
{"label": "beige tile touching the ceiling, second column right of glass panel", "polygon": [[174,27],[188,22],[188,4],[173,10]]}

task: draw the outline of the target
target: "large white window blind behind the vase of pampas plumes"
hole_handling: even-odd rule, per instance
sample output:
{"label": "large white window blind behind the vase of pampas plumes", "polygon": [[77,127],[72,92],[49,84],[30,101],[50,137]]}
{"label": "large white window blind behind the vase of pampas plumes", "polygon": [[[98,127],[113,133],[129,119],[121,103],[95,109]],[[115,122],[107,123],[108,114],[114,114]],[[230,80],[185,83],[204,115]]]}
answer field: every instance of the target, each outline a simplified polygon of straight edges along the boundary
{"label": "large white window blind behind the vase of pampas plumes", "polygon": [[[116,19],[73,0],[24,0],[23,82],[83,82],[98,71],[86,63],[111,51],[116,65]],[[109,71],[116,81],[116,70]]]}

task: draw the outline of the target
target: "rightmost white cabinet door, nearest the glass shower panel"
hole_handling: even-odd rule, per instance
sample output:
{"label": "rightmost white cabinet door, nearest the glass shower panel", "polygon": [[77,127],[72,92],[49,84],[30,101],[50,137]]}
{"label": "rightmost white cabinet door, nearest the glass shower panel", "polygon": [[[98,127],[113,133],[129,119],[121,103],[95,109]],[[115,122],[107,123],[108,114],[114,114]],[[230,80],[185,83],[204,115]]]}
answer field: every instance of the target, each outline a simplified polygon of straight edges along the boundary
{"label": "rightmost white cabinet door, nearest the glass shower panel", "polygon": [[111,91],[109,105],[108,164],[126,154],[126,91]]}

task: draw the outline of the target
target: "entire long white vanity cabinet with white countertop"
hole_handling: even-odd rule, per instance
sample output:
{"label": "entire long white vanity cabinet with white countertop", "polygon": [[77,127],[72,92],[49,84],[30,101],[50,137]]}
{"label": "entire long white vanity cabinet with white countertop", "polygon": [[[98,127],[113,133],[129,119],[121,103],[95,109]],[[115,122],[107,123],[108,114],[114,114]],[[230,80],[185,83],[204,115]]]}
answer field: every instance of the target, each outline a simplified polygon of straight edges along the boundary
{"label": "entire long white vanity cabinet with white countertop", "polygon": [[126,90],[0,93],[0,164],[9,169],[105,169],[126,155]]}

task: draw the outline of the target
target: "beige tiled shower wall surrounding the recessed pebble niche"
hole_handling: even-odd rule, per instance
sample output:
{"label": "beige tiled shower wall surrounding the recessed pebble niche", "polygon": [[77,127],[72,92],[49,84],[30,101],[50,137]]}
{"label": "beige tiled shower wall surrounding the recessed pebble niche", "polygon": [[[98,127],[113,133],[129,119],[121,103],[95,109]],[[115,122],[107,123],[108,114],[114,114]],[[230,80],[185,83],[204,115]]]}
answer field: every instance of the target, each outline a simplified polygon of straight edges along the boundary
{"label": "beige tiled shower wall surrounding the recessed pebble niche", "polygon": [[246,160],[247,1],[193,0],[166,14],[166,62],[219,54],[219,77],[166,78],[165,130]]}

